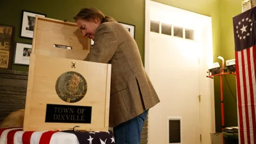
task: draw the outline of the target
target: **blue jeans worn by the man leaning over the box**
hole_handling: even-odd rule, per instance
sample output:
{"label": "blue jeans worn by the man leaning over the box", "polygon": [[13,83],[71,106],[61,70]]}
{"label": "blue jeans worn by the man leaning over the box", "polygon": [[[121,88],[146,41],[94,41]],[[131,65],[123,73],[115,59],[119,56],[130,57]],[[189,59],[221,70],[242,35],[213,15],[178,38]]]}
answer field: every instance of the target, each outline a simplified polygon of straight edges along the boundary
{"label": "blue jeans worn by the man leaning over the box", "polygon": [[147,118],[148,110],[141,115],[113,127],[116,144],[140,144],[141,131]]}

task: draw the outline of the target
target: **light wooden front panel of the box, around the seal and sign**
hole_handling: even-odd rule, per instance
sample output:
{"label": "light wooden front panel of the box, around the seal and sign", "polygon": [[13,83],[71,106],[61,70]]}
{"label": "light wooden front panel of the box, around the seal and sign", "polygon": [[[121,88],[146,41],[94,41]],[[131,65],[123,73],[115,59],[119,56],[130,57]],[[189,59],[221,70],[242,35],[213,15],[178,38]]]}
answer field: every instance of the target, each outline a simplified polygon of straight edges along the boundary
{"label": "light wooden front panel of the box, around the seal and sign", "polygon": [[[70,130],[76,125],[79,125],[77,130],[108,131],[111,65],[37,54],[34,56],[35,65],[30,69],[33,75],[28,82],[28,88],[32,90],[28,90],[24,131]],[[76,62],[76,68],[71,67],[72,62]],[[70,71],[81,74],[87,83],[86,95],[74,103],[61,100],[56,93],[58,77]],[[91,124],[45,122],[46,104],[92,106]]]}

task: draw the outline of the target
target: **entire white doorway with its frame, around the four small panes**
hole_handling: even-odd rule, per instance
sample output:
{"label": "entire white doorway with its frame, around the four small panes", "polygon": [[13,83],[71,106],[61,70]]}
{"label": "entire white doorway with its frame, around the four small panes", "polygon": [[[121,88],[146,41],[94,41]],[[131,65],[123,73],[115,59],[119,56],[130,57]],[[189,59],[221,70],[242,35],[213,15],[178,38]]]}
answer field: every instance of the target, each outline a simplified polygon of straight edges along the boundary
{"label": "entire white doorway with its frame, around the four small panes", "polygon": [[[159,22],[159,32],[150,32],[150,20]],[[211,19],[150,1],[145,22],[145,68],[161,100],[148,113],[148,144],[210,144],[214,95],[205,76],[212,63]],[[172,25],[170,35],[162,33],[162,24]],[[177,36],[177,27],[192,29],[192,40],[185,30]],[[181,119],[180,141],[170,141],[177,135],[169,131],[170,117]]]}

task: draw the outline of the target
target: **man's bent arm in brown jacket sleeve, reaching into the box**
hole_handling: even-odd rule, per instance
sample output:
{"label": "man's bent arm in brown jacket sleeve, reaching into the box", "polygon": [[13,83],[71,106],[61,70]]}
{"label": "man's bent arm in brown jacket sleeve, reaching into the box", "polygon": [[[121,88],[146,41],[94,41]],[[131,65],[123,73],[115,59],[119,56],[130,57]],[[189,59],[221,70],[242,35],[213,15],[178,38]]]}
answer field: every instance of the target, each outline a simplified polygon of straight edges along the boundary
{"label": "man's bent arm in brown jacket sleeve, reaching into the box", "polygon": [[108,63],[115,54],[118,41],[114,31],[106,24],[101,24],[95,32],[95,41],[85,61]]}

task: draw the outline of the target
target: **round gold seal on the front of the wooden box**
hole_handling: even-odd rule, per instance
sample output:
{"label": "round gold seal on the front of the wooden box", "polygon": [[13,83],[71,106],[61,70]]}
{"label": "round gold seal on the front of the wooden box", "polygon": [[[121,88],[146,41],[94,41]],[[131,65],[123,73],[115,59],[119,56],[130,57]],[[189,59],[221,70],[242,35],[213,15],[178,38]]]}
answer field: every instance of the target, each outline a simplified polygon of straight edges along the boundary
{"label": "round gold seal on the front of the wooden box", "polygon": [[56,93],[65,102],[78,102],[87,92],[84,77],[77,72],[65,72],[56,81]]}

